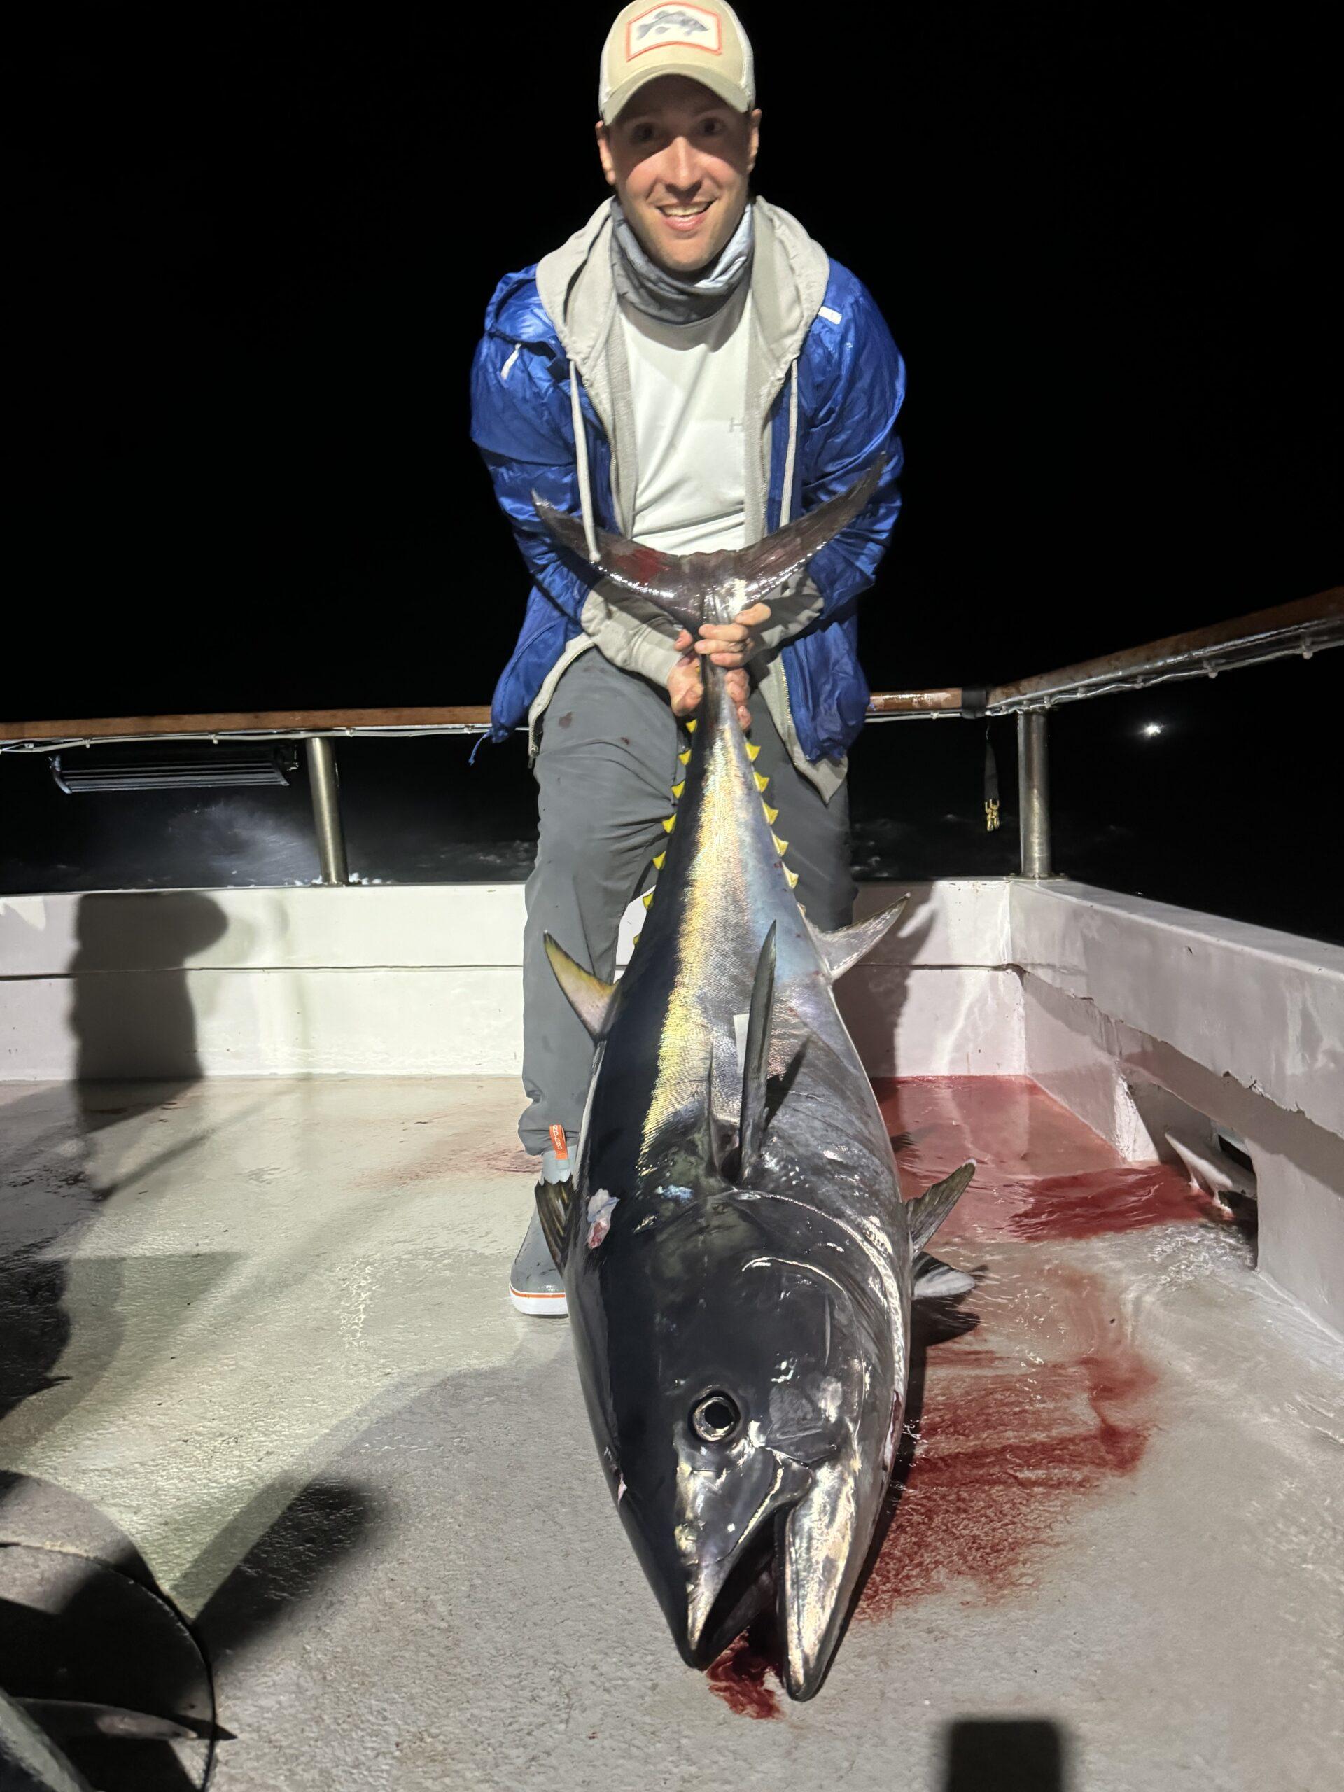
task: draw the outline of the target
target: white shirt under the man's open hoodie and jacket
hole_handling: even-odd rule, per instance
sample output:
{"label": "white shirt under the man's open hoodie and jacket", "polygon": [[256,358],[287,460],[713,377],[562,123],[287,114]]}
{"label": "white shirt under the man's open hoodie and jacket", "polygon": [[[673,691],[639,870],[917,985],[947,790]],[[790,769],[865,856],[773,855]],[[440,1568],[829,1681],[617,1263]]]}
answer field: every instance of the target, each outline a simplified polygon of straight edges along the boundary
{"label": "white shirt under the man's open hoodie and jacket", "polygon": [[749,281],[702,324],[620,305],[640,468],[634,541],[665,554],[744,547],[749,314]]}

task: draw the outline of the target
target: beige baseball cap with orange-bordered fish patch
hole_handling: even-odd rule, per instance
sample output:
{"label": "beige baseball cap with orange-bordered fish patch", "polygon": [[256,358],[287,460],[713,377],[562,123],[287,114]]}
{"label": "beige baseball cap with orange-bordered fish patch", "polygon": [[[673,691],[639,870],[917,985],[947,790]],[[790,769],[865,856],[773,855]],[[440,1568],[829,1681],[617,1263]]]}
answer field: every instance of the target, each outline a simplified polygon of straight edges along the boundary
{"label": "beige baseball cap with orange-bordered fish patch", "polygon": [[597,108],[611,124],[659,75],[690,75],[735,111],[756,104],[751,43],[724,0],[634,0],[602,45]]}

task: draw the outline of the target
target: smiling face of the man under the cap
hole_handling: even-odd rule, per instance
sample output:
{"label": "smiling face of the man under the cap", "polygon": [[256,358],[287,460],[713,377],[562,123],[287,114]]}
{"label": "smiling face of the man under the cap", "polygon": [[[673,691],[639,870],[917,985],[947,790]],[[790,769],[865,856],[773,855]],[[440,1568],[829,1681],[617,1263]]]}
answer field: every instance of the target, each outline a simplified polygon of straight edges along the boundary
{"label": "smiling face of the man under the cap", "polygon": [[634,235],[672,274],[708,267],[738,228],[758,142],[760,111],[733,111],[688,75],[659,75],[597,127],[602,170]]}

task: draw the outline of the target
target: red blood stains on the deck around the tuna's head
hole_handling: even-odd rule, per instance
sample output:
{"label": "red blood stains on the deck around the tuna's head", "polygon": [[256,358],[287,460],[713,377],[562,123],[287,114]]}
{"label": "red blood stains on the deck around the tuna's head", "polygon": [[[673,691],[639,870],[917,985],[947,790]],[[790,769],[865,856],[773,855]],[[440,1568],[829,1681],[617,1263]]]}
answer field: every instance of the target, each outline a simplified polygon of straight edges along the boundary
{"label": "red blood stains on the deck around the tuna's head", "polygon": [[[1107,1281],[1039,1245],[1228,1222],[1179,1167],[1125,1163],[1029,1077],[874,1088],[907,1199],[977,1161],[939,1244],[977,1245],[962,1310],[978,1322],[930,1349],[916,1331],[923,1385],[912,1387],[903,1471],[855,1622],[934,1593],[962,1604],[1027,1593],[1070,1516],[1143,1457],[1156,1371]],[[769,1649],[751,1636],[708,1681],[733,1711],[781,1711]]]}

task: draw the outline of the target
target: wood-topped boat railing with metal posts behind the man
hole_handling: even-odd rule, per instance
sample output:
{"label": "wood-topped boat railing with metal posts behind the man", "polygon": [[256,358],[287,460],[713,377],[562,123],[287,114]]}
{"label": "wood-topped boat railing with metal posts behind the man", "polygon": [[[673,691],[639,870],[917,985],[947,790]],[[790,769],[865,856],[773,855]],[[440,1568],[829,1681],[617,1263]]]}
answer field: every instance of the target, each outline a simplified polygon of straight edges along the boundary
{"label": "wood-topped boat railing with metal posts behind the man", "polygon": [[[1278,604],[1249,616],[1168,634],[1145,647],[1102,654],[1081,665],[1007,685],[950,685],[939,690],[874,692],[869,722],[939,717],[1018,719],[1018,826],[1021,876],[1052,876],[1047,715],[1055,704],[1109,697],[1172,679],[1217,677],[1271,659],[1344,645],[1344,586]],[[95,745],[194,740],[303,740],[317,828],[323,883],[346,883],[335,747],[339,738],[484,735],[489,708],[466,704],[403,710],[246,710],[219,715],[131,715],[95,720],[0,722],[0,753],[66,753]]]}

